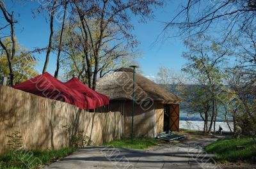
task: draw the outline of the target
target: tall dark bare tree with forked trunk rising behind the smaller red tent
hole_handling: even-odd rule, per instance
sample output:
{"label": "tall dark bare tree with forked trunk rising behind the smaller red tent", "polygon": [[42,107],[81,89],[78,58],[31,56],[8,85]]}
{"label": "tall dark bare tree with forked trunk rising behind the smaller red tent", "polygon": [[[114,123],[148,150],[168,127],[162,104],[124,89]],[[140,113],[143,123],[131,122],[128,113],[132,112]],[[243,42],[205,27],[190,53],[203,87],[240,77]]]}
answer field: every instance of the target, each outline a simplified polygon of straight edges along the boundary
{"label": "tall dark bare tree with forked trunk rising behind the smaller red tent", "polygon": [[[134,15],[139,15],[141,20],[145,21],[146,18],[152,17],[151,6],[161,6],[163,3],[161,0],[136,0],[136,1],[113,1],[113,0],[94,0],[94,1],[73,1],[74,11],[79,16],[81,22],[81,31],[83,32],[84,53],[85,55],[88,85],[95,89],[97,76],[99,70],[99,55],[102,50],[102,46],[108,39],[108,28],[117,27],[118,34],[122,34],[121,38],[130,41],[131,45],[136,45],[137,41],[134,40],[134,36],[131,34],[132,24],[130,23],[130,15],[128,11],[131,11]],[[95,20],[99,26],[99,34],[97,38],[93,38],[92,30],[90,27],[90,20]],[[113,36],[112,36],[113,37]],[[110,41],[110,40],[109,40]],[[113,38],[111,41],[115,41]],[[116,47],[119,44],[116,44]],[[113,48],[116,48],[115,46]],[[92,62],[90,59],[93,59]]]}

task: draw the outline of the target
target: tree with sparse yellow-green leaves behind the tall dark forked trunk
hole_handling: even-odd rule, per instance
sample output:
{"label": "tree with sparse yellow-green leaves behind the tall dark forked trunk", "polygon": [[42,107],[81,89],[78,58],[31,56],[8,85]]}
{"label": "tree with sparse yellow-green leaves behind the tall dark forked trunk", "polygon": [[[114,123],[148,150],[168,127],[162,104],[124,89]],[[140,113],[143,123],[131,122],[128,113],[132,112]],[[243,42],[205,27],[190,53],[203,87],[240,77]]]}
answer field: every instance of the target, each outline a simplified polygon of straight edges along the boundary
{"label": "tree with sparse yellow-green leaves behind the tall dark forked trunk", "polygon": [[[93,41],[95,41],[97,34],[99,34],[97,23],[90,21],[88,24],[90,24],[90,27],[96,27],[96,29],[91,31]],[[89,83],[89,81],[93,75],[94,57],[91,54],[90,45],[86,45],[86,41],[84,41],[86,39],[84,39],[83,31],[77,31],[77,27],[79,30],[82,29],[80,22],[72,20],[67,29],[65,29],[61,64],[63,64],[65,77],[68,78],[76,75],[84,84],[92,86],[92,83]],[[104,35],[106,38],[103,40],[104,42],[98,57],[99,70],[97,73],[99,77],[103,77],[106,73],[117,68],[129,66],[134,58],[140,57],[140,53],[125,45],[125,42],[120,40],[118,38],[119,35],[117,36],[116,33],[118,33],[118,29],[108,27],[108,31]],[[59,38],[57,37],[56,40],[59,40]],[[88,71],[90,71],[90,77],[88,77]]]}

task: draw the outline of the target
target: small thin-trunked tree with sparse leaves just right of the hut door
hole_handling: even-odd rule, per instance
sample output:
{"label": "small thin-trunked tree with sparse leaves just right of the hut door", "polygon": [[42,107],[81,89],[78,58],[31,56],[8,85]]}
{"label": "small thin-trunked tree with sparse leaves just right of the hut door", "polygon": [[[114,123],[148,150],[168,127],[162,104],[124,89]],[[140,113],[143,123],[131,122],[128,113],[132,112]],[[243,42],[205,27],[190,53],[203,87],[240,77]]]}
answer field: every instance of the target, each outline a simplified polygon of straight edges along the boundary
{"label": "small thin-trunked tree with sparse leaves just right of the hut door", "polygon": [[183,71],[194,77],[197,85],[204,87],[207,94],[211,94],[211,121],[208,133],[211,132],[212,126],[215,133],[215,122],[218,116],[218,95],[223,86],[223,73],[219,66],[228,50],[218,45],[211,37],[204,35],[198,36],[197,40],[193,40],[193,43],[185,41],[185,44],[188,45],[189,52],[184,52],[183,57],[189,62]]}

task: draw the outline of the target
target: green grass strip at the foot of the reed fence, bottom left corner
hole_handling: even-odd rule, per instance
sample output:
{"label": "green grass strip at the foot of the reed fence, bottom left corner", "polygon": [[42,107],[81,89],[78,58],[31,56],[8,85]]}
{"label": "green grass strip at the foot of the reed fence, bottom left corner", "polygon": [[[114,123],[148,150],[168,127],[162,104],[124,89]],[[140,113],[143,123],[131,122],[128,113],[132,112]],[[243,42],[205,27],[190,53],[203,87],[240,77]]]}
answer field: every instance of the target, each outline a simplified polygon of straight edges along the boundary
{"label": "green grass strip at the foot of the reed fence, bottom left corner", "polygon": [[39,168],[41,165],[52,163],[68,156],[76,149],[63,148],[46,151],[15,151],[0,154],[0,168]]}

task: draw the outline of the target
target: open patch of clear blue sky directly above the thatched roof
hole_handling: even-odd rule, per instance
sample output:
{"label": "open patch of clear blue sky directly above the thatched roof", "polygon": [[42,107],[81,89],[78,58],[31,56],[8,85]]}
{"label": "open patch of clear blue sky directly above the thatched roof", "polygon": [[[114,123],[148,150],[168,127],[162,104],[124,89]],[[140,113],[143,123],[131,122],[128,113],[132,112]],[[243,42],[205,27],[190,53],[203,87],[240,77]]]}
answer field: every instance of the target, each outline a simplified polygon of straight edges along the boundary
{"label": "open patch of clear blue sky directly above the thatched roof", "polygon": [[[182,57],[182,52],[186,50],[180,38],[167,38],[161,34],[164,28],[163,22],[166,22],[175,15],[177,4],[174,1],[166,1],[163,9],[155,11],[155,19],[146,24],[134,22],[134,34],[140,41],[139,50],[143,58],[138,59],[141,70],[145,76],[156,76],[159,66],[170,68],[171,70],[180,70],[186,62]],[[175,32],[176,30],[173,30]],[[159,36],[161,34],[161,36]],[[170,33],[172,34],[172,33]],[[157,37],[159,38],[157,39]]]}

